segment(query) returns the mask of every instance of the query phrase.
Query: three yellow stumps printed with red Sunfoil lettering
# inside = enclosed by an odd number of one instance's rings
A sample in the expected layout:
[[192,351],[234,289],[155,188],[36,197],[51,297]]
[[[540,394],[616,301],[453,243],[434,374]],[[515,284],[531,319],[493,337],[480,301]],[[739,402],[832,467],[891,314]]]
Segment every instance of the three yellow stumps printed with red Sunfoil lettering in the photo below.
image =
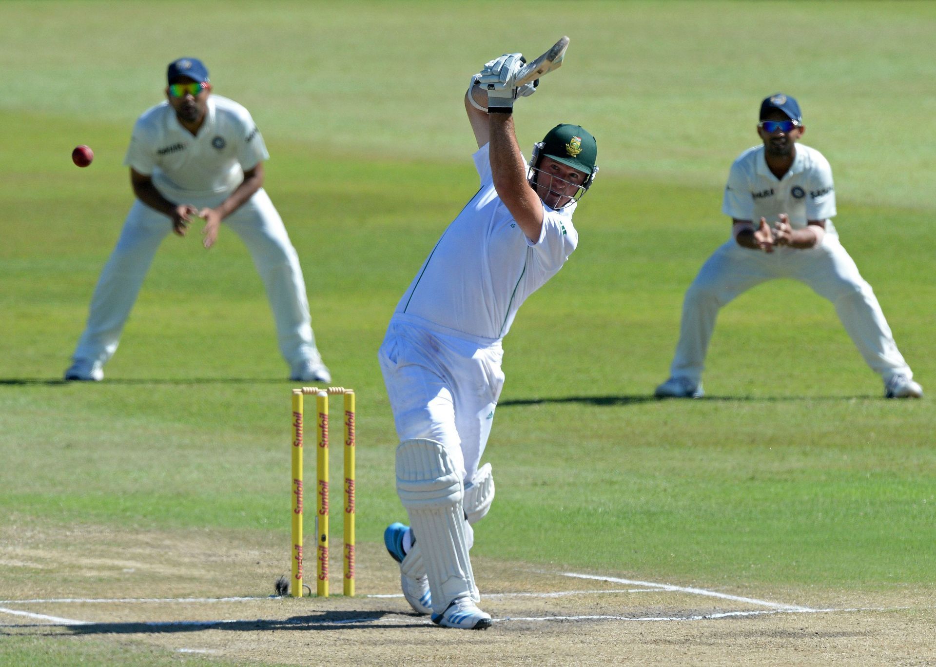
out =
[[355,394],[344,387],[302,387],[292,393],[292,583],[302,597],[302,397],[315,395],[316,595],[329,597],[329,394],[344,394],[344,595],[354,595]]

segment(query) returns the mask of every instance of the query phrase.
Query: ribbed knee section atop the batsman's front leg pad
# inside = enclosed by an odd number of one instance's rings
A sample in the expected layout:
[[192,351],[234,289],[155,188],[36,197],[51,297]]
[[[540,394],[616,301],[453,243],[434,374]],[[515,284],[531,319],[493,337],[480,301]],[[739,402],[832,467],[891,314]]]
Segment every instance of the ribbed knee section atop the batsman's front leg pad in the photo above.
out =
[[461,476],[441,442],[417,438],[397,447],[397,493],[407,510],[461,503]]

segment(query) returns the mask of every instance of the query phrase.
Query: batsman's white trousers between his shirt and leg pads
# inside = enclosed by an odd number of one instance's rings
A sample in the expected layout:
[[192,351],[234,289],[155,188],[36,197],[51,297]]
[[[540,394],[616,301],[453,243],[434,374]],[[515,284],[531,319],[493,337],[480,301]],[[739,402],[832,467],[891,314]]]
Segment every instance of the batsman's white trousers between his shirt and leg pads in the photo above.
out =
[[441,442],[468,483],[504,388],[504,348],[500,340],[448,331],[398,313],[377,356],[400,441]]

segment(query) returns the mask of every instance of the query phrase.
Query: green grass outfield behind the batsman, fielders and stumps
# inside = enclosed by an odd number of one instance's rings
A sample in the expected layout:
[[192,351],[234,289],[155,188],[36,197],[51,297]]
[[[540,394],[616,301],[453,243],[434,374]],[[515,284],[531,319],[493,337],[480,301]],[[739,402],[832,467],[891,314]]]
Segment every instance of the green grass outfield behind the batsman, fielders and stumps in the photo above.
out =
[[[597,136],[602,171],[577,214],[578,251],[505,341],[486,455],[498,500],[475,553],[735,591],[933,591],[931,400],[882,400],[809,289],[770,283],[724,309],[708,399],[650,398],[682,294],[728,234],[728,166],[755,141],[759,99],[780,89],[830,159],[843,245],[936,390],[934,169],[921,139],[936,111],[921,37],[936,31],[933,5],[519,2],[523,29],[466,35],[452,26],[501,5],[233,7],[0,5],[0,58],[20,73],[0,97],[0,528],[241,534],[282,543],[286,569],[292,385],[233,233],[209,253],[197,234],[168,237],[107,381],[57,382],[131,201],[130,127],[185,52],[264,132],[267,189],[300,253],[319,347],[335,383],[358,391],[358,542],[379,544],[403,512],[376,349],[475,192],[461,91],[492,55],[565,33],[567,63],[519,102],[520,142],[528,151],[574,119]],[[182,15],[192,38],[167,39]],[[70,163],[77,143],[95,149],[87,170]],[[28,597],[54,571],[0,544],[0,599]],[[275,573],[210,593],[264,595]],[[0,662],[170,659],[139,651],[5,637]]]

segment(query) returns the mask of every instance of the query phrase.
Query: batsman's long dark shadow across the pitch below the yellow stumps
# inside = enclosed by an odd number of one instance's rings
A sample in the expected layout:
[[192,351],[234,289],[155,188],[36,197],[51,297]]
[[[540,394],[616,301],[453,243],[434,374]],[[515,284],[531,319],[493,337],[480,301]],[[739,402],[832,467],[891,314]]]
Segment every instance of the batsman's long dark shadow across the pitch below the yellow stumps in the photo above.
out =
[[[412,617],[411,623],[385,622],[384,616]],[[18,626],[22,628],[23,626]],[[55,628],[43,633],[47,636],[74,636],[93,634],[170,634],[176,632],[199,632],[201,630],[232,630],[236,632],[269,632],[274,630],[355,630],[434,628],[425,616],[404,614],[396,611],[377,612],[322,612],[320,614],[291,616],[284,619],[256,618],[254,620],[213,621],[116,621],[110,623],[83,623],[68,626],[32,626],[33,628]]]

